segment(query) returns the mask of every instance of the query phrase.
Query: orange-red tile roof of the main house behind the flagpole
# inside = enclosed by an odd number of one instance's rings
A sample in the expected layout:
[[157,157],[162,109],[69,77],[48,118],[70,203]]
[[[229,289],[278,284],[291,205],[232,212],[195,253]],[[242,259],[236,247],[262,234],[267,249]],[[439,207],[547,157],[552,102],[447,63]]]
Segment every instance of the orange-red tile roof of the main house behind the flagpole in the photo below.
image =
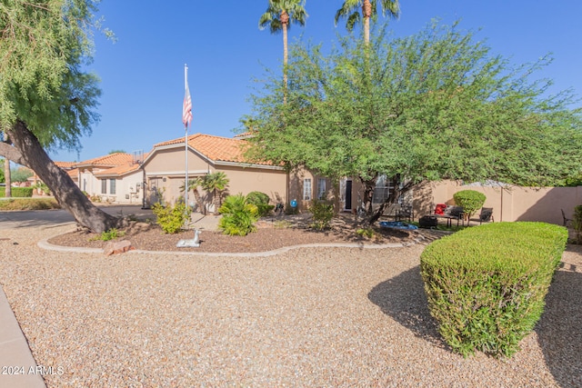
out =
[[[154,148],[174,144],[184,144],[184,137],[155,144]],[[244,150],[247,144],[246,140],[243,139],[220,137],[211,134],[191,134],[188,136],[188,145],[190,147],[215,162],[271,164],[268,162],[251,161],[246,158]]]

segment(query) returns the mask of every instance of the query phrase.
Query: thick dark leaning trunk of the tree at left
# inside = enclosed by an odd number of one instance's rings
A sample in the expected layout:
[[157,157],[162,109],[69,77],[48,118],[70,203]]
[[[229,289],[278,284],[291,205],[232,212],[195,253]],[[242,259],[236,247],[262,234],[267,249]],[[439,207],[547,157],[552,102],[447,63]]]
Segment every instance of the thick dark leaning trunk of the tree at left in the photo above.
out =
[[77,223],[95,233],[123,226],[122,219],[106,214],[89,201],[71,177],[53,163],[35,134],[23,122],[16,122],[8,132],[16,150],[22,154],[25,165],[35,171],[51,189],[56,201],[73,214]]

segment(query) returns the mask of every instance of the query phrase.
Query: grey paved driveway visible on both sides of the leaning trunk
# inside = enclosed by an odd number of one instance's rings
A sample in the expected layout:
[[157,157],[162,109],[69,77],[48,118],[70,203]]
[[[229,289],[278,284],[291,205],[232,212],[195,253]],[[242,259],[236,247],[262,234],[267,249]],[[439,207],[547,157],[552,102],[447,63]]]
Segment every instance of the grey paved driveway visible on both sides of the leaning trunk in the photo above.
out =
[[[99,205],[99,209],[116,216],[133,214],[137,218],[153,218],[151,209],[142,209],[141,204]],[[60,210],[23,210],[0,212],[0,230],[27,227],[54,227],[73,224],[75,218],[64,209]]]

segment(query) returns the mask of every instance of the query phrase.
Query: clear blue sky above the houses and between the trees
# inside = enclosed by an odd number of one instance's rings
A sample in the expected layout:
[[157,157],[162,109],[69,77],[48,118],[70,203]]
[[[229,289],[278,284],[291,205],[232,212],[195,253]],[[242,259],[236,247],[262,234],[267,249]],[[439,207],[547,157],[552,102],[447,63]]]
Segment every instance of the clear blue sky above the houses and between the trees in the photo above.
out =
[[[303,35],[333,45],[344,24],[334,26],[342,0],[307,0],[306,26],[293,25],[289,40]],[[582,95],[582,2],[563,0],[401,1],[402,15],[391,22],[396,36],[413,35],[431,18],[463,29],[478,29],[494,54],[514,64],[552,53],[554,62],[538,77],[555,81],[553,91],[572,88]],[[102,0],[100,15],[117,41],[95,35],[95,61],[101,78],[101,121],[76,151],[52,150],[57,161],[82,161],[115,149],[150,151],[153,144],[184,135],[184,65],[194,105],[189,134],[233,136],[239,119],[251,112],[247,99],[253,79],[283,58],[282,35],[260,31],[267,0],[221,2]]]

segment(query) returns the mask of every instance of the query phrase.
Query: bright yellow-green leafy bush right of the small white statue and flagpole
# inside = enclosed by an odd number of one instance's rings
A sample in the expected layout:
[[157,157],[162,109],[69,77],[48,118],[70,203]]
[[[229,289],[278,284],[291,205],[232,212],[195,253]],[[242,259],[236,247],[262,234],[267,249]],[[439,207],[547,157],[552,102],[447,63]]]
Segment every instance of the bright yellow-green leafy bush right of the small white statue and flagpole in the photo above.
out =
[[258,208],[256,204],[249,204],[245,195],[228,195],[218,212],[222,214],[218,227],[224,234],[246,235],[256,231]]

